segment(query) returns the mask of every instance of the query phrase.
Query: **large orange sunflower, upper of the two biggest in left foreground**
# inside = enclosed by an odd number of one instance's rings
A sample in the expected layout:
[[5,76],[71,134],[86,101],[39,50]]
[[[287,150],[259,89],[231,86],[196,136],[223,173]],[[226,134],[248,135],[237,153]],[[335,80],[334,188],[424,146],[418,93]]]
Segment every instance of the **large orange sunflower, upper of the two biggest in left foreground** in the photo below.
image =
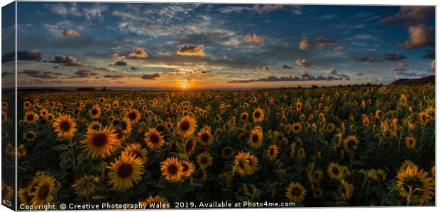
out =
[[92,155],[92,158],[105,158],[119,146],[117,134],[114,129],[104,127],[101,130],[90,129],[87,131],[86,139],[79,141],[83,144],[85,151]]

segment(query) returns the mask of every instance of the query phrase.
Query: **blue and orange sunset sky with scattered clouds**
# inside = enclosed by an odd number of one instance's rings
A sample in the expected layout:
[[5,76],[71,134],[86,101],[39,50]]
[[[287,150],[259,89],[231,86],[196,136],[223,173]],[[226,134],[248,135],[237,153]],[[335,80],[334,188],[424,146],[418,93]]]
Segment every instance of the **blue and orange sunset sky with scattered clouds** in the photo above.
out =
[[[434,7],[18,2],[17,10],[20,87],[277,88],[435,74]],[[4,44],[12,26],[2,25]],[[11,45],[2,47],[2,76],[13,70]]]

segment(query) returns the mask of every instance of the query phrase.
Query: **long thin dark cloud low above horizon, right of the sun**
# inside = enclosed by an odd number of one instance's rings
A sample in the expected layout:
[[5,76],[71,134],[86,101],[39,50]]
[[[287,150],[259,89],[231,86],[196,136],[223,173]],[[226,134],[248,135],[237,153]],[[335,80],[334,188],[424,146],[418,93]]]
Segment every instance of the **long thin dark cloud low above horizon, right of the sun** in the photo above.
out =
[[228,83],[253,83],[253,82],[278,82],[278,81],[340,81],[349,80],[349,78],[343,78],[339,76],[311,76],[309,73],[301,73],[295,76],[268,76],[267,78],[257,78],[248,80],[233,80]]

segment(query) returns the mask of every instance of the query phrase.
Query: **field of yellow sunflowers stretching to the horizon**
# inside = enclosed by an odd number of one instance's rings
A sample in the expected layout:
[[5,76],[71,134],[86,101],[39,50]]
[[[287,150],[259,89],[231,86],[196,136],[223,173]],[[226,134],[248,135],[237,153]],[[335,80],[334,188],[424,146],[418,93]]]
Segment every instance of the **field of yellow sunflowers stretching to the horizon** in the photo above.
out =
[[434,85],[18,97],[18,204],[435,205]]

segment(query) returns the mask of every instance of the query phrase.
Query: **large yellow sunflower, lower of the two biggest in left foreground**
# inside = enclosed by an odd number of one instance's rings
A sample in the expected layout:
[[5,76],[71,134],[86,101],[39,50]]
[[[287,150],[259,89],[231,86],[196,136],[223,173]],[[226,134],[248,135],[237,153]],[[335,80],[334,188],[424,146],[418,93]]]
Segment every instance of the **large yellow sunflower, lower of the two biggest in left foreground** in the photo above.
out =
[[142,179],[143,162],[141,158],[136,158],[133,153],[122,153],[107,168],[110,169],[109,185],[113,185],[113,189],[117,191],[123,192],[130,189]]

